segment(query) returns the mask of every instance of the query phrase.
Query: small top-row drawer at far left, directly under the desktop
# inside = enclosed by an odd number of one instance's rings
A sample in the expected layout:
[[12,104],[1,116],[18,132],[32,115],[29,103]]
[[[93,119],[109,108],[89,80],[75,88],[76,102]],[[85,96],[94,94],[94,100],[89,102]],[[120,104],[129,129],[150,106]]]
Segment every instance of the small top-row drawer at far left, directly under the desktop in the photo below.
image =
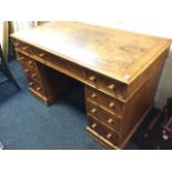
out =
[[13,42],[14,44],[14,49],[19,52],[22,52],[27,55],[31,55],[32,54],[32,48],[31,45],[27,44],[27,43],[23,43],[21,41],[18,41],[18,40],[14,40]]

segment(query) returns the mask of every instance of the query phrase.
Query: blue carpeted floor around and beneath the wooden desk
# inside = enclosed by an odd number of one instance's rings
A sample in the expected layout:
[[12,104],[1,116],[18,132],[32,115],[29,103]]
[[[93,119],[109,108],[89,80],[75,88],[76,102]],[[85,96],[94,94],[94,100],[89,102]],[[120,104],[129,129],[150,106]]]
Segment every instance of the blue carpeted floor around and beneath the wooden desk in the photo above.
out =
[[[0,73],[0,142],[7,150],[105,150],[87,134],[82,84],[45,107],[29,93],[20,63],[9,67],[21,91]],[[139,148],[130,142],[125,149]]]

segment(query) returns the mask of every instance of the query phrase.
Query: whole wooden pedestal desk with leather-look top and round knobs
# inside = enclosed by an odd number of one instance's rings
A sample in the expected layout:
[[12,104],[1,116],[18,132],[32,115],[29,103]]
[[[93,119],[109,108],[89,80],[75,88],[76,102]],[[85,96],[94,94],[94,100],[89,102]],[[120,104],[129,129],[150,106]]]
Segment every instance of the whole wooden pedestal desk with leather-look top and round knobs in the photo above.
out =
[[123,149],[152,107],[171,44],[81,22],[48,22],[12,38],[30,92],[47,104],[70,78],[84,84],[87,131],[108,149]]

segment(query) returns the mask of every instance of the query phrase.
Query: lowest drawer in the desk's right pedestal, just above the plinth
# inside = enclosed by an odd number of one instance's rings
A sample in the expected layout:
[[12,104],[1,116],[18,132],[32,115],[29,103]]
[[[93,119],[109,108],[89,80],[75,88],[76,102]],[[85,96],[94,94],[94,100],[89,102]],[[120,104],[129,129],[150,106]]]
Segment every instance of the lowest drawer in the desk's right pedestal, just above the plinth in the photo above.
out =
[[90,129],[92,129],[94,132],[112,144],[119,144],[120,135],[90,115],[88,115],[88,125]]

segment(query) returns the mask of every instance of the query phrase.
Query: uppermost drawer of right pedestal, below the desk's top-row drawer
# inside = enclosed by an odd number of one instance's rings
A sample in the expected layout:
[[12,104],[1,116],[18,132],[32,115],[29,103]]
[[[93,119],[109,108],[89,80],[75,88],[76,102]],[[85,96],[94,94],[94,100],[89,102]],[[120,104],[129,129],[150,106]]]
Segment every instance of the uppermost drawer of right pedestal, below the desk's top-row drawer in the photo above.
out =
[[103,92],[95,90],[91,87],[85,87],[85,98],[100,107],[103,107],[108,111],[122,117],[122,103],[117,99],[104,94]]

